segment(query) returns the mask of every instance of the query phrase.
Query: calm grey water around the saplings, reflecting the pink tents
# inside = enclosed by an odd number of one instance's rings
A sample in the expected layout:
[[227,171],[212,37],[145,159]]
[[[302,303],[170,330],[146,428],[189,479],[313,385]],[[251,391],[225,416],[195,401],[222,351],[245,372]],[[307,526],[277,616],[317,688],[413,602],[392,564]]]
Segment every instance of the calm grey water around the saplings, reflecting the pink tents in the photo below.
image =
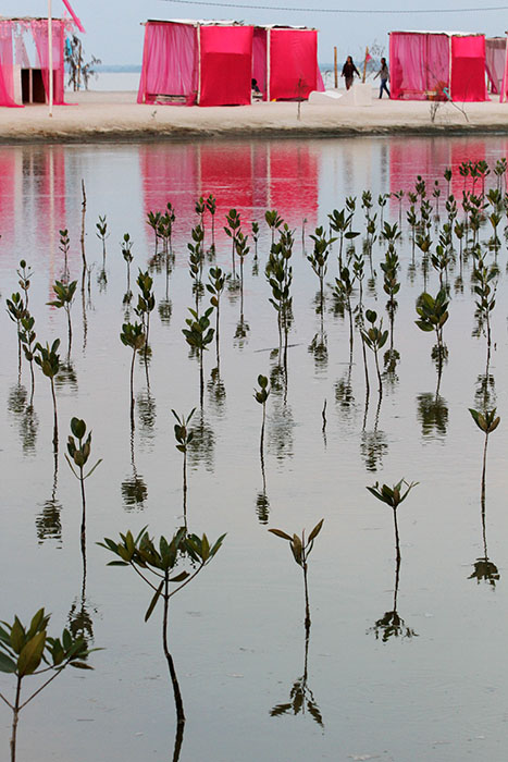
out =
[[[216,374],[211,377],[212,349],[205,358],[203,411],[195,416],[199,446],[190,454],[189,525],[212,538],[222,532],[227,537],[216,558],[171,607],[171,648],[187,715],[181,760],[506,759],[506,247],[498,257],[492,318],[491,405],[497,405],[501,423],[488,444],[486,542],[499,576],[490,583],[472,577],[476,560],[485,554],[480,506],[483,435],[468,407],[480,405],[485,340],[472,335],[471,259],[463,266],[463,291],[456,287],[458,261],[449,273],[449,357],[436,400],[433,339],[414,325],[414,302],[423,291],[421,256],[412,268],[404,225],[394,331],[400,360],[384,381],[379,407],[369,357],[365,415],[358,335],[349,367],[348,322],[334,310],[330,288],[321,334],[319,284],[302,254],[301,225],[306,219],[309,249],[309,233],[325,224],[326,214],[342,208],[346,196],[360,196],[365,188],[372,190],[379,219],[379,194],[411,189],[417,173],[431,181],[430,186],[439,179],[443,212],[446,167],[454,168],[451,187],[460,196],[460,162],[486,159],[493,167],[507,151],[506,140],[498,138],[0,148],[1,296],[4,300],[17,290],[15,269],[26,258],[34,269],[29,299],[37,337],[46,342],[60,336],[62,359],[65,317],[46,303],[52,282],[62,274],[63,228],[71,236],[71,278],[80,278],[82,179],[87,194],[86,250],[88,262],[95,263],[85,311],[80,295],[72,309],[71,361],[58,383],[57,471],[49,382],[37,369],[30,417],[17,386],[14,325],[2,310],[0,616],[12,622],[16,613],[26,620],[46,605],[52,612],[51,631],[80,617],[94,644],[104,649],[90,657],[94,672],[69,669],[24,710],[20,760],[172,759],[175,713],[159,616],[156,612],[144,624],[147,589],[129,569],[108,568],[111,558],[95,542],[146,525],[154,534],[171,536],[179,525],[182,459],[174,446],[171,408],[187,413],[199,404],[198,366],[188,355],[182,328],[193,305],[186,247],[197,221],[194,206],[199,195],[209,193],[218,198],[221,267],[230,269],[231,242],[222,225],[231,207],[240,211],[246,232],[250,221],[258,220],[261,233],[259,274],[253,272],[252,249],[246,261],[243,323],[237,294],[224,294],[220,382]],[[495,183],[492,174],[487,183]],[[163,261],[152,269],[157,307],[150,328],[150,389],[143,365],[136,364],[132,447],[131,352],[119,339],[126,310],[120,242],[125,232],[134,239],[134,283],[137,268],[146,269],[153,257],[146,214],[170,200],[177,216],[175,263],[169,280]],[[287,400],[273,391],[268,403],[263,504],[261,409],[252,391],[258,374],[270,374],[276,364],[271,353],[277,346],[276,318],[264,279],[268,208],[276,208],[296,230],[296,244]],[[384,213],[397,221],[398,202],[389,200]],[[110,231],[104,271],[96,236],[99,214],[107,214]],[[505,224],[506,220],[500,230]],[[359,201],[354,229],[363,233]],[[490,234],[484,226],[481,239]],[[358,250],[359,242],[361,237],[356,239]],[[374,244],[375,285],[365,284],[364,300],[387,325],[379,267],[384,250]],[[335,253],[326,278],[331,283],[337,274]],[[437,288],[431,268],[429,290]],[[357,298],[358,294],[355,304]],[[29,391],[27,366],[22,384]],[[92,457],[103,458],[87,481],[85,598],[78,484],[63,458],[74,415],[94,430]],[[395,607],[405,620],[404,632],[412,637],[384,641],[380,620],[394,611],[396,585],[393,523],[389,508],[365,487],[401,477],[420,482],[399,508],[401,565]],[[302,580],[287,543],[267,529],[299,532],[321,517],[324,527],[309,562],[312,628],[306,701],[295,706],[294,685],[305,674]],[[0,689],[12,695],[8,676],[0,677]],[[0,727],[7,758],[7,706],[0,712]]]

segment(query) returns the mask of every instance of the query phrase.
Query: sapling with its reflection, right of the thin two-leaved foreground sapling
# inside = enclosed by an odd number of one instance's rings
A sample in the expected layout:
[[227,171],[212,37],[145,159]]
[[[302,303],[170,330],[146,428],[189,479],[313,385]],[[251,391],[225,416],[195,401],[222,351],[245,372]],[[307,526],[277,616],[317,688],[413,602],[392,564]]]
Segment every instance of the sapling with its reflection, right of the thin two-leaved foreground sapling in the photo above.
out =
[[394,530],[395,530],[395,586],[394,586],[394,603],[393,603],[393,610],[386,612],[381,619],[377,619],[374,624],[374,626],[368,630],[368,631],[373,631],[375,635],[375,638],[379,639],[381,637],[382,641],[385,643],[388,641],[389,638],[395,637],[395,638],[412,638],[417,636],[417,632],[408,627],[405,623],[405,620],[401,618],[401,616],[398,614],[397,611],[397,595],[398,595],[398,587],[399,587],[399,575],[400,575],[400,561],[401,561],[401,555],[400,555],[400,540],[399,540],[399,533],[398,533],[398,524],[397,524],[397,508],[402,503],[410,491],[412,490],[413,487],[416,487],[418,482],[407,482],[404,479],[400,479],[397,484],[394,484],[393,487],[388,487],[388,484],[382,484],[380,487],[379,482],[375,482],[373,487],[368,487],[367,489],[371,494],[374,495],[374,497],[377,497],[382,503],[385,503],[385,505],[388,505],[392,511],[393,511],[393,517],[394,517]]

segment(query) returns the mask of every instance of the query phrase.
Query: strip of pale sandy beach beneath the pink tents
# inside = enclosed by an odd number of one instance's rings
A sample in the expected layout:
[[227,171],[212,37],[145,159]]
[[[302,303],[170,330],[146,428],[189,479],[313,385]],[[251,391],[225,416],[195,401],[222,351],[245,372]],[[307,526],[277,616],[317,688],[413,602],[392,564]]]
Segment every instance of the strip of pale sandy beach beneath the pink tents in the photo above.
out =
[[69,93],[70,106],[0,109],[0,142],[145,140],[188,137],[332,137],[387,134],[507,133],[508,103],[439,106],[373,98],[367,107],[294,102],[241,107],[139,106],[132,91]]

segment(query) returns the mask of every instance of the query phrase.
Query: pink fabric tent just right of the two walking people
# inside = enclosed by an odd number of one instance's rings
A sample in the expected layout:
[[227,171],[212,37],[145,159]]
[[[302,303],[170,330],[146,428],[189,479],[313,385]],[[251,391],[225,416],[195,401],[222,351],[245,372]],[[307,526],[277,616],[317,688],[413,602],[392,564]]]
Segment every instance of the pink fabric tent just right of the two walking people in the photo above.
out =
[[392,98],[488,100],[485,35],[455,32],[392,32]]

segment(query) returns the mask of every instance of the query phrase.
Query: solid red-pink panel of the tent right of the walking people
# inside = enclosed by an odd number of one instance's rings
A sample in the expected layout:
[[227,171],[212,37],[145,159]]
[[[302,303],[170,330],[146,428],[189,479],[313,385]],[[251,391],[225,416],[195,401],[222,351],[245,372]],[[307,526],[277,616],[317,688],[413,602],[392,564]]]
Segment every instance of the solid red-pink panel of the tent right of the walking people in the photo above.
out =
[[484,35],[451,37],[451,100],[488,100]]

